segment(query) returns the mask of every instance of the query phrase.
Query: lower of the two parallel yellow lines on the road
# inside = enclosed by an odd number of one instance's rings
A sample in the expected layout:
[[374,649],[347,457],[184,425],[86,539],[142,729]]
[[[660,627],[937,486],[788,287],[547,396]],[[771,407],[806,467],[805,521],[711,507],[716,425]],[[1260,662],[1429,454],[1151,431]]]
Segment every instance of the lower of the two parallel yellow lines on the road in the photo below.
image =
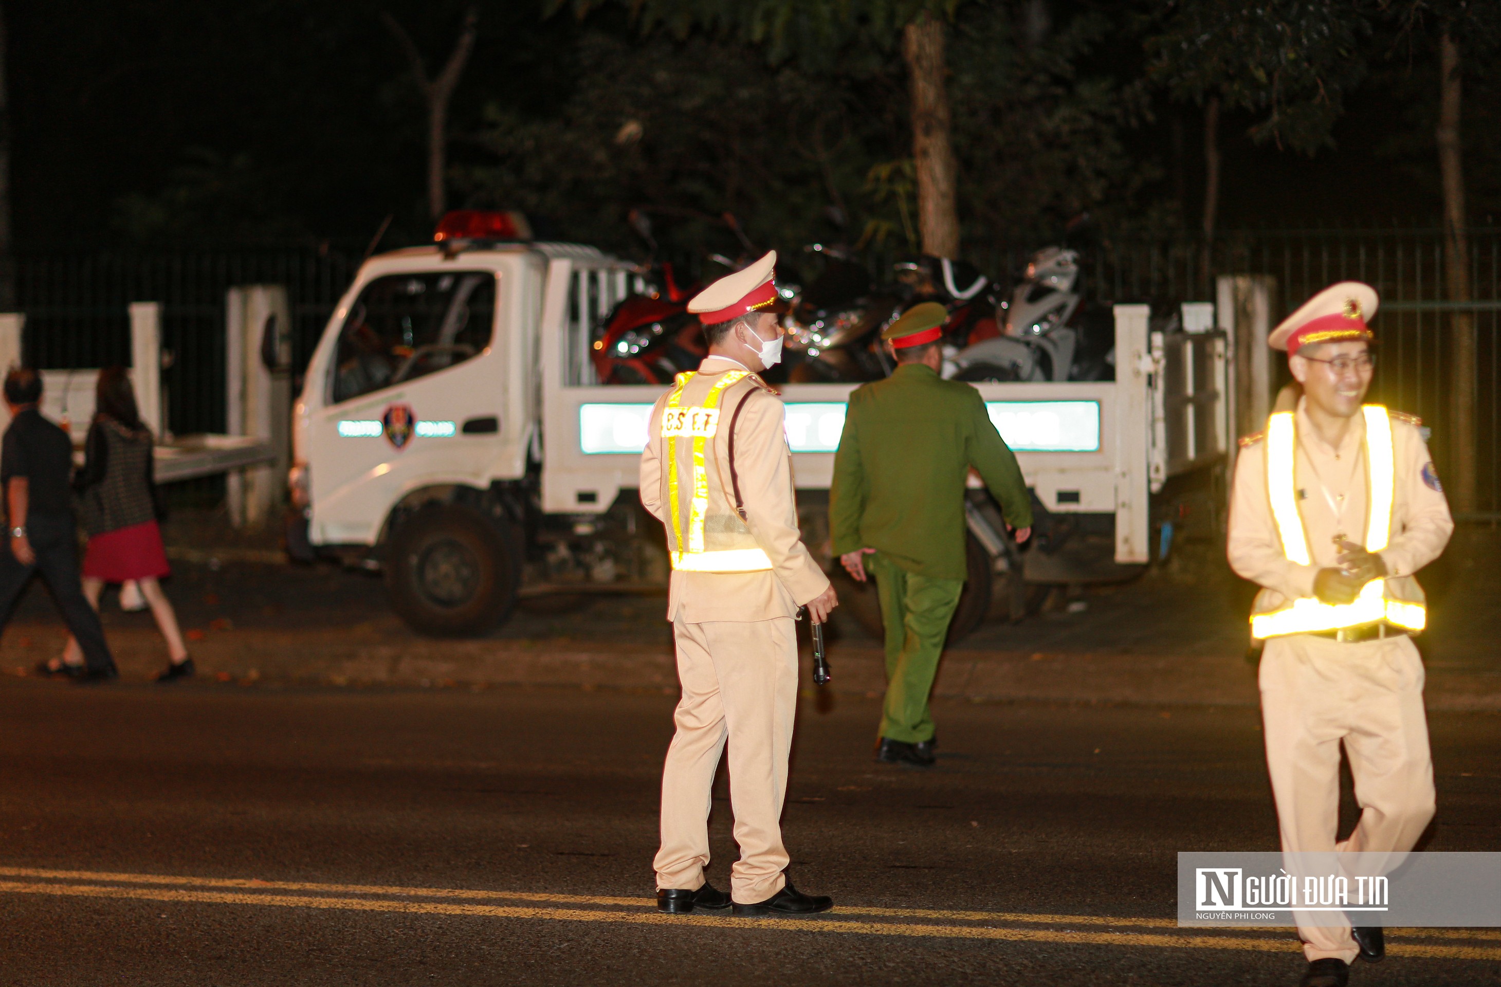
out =
[[[15,870],[15,868],[8,868]],[[69,872],[62,872],[69,873]],[[215,880],[215,879],[201,879]],[[261,882],[266,886],[270,882]],[[908,922],[865,922],[817,918],[731,918],[710,915],[663,915],[660,912],[615,912],[569,908],[518,908],[504,904],[456,904],[447,902],[390,902],[380,898],[314,897],[291,894],[245,894],[236,891],[185,891],[179,888],[125,888],[90,884],[26,884],[0,880],[0,892],[47,894],[54,897],[123,898],[135,902],[182,902],[197,904],[254,904],[261,908],[312,908],[327,910],[386,912],[408,915],[459,915],[480,918],[531,918],[548,921],[608,922],[636,926],[711,926],[785,932],[833,932],[868,936],[920,939],[989,939],[1007,942],[1054,942],[1078,945],[1157,946],[1177,950],[1240,950],[1295,952],[1289,939],[1247,936],[1169,936],[1160,933],[1072,932],[1055,928],[991,928],[983,926],[928,926]],[[581,896],[579,896],[581,897]],[[635,902],[636,898],[627,898]],[[896,909],[889,909],[896,910]],[[1393,944],[1393,956],[1501,960],[1501,950],[1486,946]]]

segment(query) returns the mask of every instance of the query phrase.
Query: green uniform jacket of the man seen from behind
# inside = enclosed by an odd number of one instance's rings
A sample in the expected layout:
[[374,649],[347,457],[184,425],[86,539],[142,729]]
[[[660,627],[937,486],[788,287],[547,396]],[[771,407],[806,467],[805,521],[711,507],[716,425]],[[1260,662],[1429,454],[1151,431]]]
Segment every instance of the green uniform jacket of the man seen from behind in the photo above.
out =
[[1001,504],[1006,524],[1031,526],[1031,501],[970,384],[904,363],[850,394],[829,519],[836,555],[877,549],[910,573],[964,579],[964,484],[970,466]]

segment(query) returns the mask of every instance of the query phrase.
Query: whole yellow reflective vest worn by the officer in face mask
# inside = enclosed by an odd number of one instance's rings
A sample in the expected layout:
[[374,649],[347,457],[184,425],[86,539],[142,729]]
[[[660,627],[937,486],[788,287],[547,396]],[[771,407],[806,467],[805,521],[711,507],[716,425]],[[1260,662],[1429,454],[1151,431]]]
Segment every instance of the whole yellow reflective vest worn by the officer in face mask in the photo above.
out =
[[[734,460],[725,476],[705,448],[719,434],[723,394],[750,376],[746,370],[722,374],[708,388],[702,405],[683,405],[683,387],[693,372],[678,374],[666,408],[662,411],[662,440],[666,458],[666,494],[671,524],[668,555],[672,568],[698,573],[754,573],[772,568],[772,560],[757,544],[755,536],[738,513],[734,496]],[[734,410],[723,422],[732,428]],[[731,446],[732,454],[734,446]],[[684,496],[686,494],[686,496]],[[686,501],[686,502],[684,502]],[[684,510],[686,508],[686,510]]]

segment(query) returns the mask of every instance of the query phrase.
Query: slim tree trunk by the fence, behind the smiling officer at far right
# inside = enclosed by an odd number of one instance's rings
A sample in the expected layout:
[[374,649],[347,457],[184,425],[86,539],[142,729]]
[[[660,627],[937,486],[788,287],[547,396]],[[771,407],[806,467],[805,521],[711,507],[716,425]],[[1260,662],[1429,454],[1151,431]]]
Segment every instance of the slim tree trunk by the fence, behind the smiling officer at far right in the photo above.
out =
[[[1459,46],[1445,30],[1438,42],[1439,110],[1438,165],[1444,178],[1444,274],[1448,300],[1469,302],[1469,237],[1465,231],[1463,148],[1459,140],[1460,76]],[[1448,496],[1454,510],[1475,510],[1475,316],[1468,310],[1450,315],[1450,423]]]

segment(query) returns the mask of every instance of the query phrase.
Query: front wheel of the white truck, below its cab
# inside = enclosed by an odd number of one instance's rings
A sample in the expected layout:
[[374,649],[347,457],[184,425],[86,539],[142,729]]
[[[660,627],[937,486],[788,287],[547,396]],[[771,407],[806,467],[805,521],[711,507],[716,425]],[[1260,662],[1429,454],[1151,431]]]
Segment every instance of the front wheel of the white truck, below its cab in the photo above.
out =
[[516,604],[510,540],[479,512],[423,507],[390,538],[386,588],[413,630],[434,638],[483,634]]

